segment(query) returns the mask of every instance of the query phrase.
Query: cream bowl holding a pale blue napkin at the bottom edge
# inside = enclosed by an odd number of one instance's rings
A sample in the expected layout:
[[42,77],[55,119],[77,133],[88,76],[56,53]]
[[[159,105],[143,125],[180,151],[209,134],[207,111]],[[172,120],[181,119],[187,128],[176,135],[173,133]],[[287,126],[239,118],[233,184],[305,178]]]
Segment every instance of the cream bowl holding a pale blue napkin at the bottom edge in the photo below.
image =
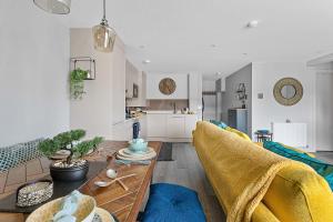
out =
[[[62,198],[48,202],[33,211],[26,222],[52,221],[53,215],[59,212]],[[95,200],[92,196],[83,195],[79,202],[79,208],[73,214],[78,222],[91,222],[95,213]]]

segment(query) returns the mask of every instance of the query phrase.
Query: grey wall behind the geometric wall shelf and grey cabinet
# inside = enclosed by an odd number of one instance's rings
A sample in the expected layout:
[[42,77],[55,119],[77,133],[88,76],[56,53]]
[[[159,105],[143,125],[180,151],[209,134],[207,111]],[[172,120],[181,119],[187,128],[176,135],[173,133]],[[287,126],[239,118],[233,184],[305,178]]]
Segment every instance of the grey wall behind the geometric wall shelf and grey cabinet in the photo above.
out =
[[248,108],[248,133],[252,133],[252,64],[248,64],[239,71],[225,78],[225,92],[222,99],[222,115],[228,122],[228,110],[232,108],[241,108],[242,102],[236,98],[235,91],[240,83],[245,84],[248,99],[245,105]]

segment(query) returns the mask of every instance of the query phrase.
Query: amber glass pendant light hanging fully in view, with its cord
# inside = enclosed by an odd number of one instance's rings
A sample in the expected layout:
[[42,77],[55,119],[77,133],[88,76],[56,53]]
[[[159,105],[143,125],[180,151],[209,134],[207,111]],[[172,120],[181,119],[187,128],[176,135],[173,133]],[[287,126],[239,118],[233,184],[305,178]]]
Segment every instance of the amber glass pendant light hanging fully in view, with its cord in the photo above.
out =
[[100,24],[92,28],[93,47],[98,51],[112,52],[117,33],[109,27],[105,18],[105,0],[103,0],[103,18]]

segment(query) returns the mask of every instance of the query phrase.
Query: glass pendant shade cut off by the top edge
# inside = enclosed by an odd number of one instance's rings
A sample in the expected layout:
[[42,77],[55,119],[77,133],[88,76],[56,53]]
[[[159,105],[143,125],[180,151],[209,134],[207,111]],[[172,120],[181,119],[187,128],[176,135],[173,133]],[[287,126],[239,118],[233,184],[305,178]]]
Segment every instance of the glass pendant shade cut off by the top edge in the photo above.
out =
[[33,2],[50,13],[68,14],[71,10],[71,0],[33,0]]

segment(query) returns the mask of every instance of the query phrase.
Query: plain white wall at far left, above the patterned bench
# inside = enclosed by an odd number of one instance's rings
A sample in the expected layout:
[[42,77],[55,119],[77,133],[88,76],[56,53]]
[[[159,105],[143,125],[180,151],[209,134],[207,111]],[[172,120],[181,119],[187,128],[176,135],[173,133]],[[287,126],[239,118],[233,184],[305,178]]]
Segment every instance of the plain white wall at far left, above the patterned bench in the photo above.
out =
[[0,145],[69,129],[68,18],[0,1]]

